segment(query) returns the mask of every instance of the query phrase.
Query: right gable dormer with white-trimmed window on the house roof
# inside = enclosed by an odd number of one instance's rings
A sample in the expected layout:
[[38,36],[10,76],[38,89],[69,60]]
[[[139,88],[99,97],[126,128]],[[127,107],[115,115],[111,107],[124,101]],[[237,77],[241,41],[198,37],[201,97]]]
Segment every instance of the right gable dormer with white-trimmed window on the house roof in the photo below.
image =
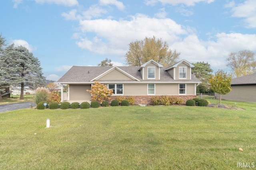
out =
[[193,67],[193,64],[182,60],[166,68],[165,71],[168,71],[174,80],[191,80],[191,68]]

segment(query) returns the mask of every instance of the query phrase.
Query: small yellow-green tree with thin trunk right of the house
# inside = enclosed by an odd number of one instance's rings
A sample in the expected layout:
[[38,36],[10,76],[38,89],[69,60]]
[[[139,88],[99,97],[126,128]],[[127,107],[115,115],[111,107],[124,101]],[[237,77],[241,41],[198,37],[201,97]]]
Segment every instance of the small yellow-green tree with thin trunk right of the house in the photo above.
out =
[[231,91],[231,79],[232,76],[230,74],[227,74],[223,70],[218,70],[209,80],[212,91],[220,94],[220,104],[221,95],[228,94]]

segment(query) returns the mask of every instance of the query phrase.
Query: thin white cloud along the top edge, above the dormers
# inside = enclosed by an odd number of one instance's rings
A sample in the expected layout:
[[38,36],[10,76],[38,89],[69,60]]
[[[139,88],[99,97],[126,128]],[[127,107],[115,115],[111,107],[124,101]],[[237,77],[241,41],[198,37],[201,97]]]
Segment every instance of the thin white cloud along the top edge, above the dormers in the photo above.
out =
[[186,6],[194,6],[199,2],[207,2],[208,4],[214,2],[214,0],[144,0],[146,5],[154,6],[156,3],[160,2],[162,4],[178,5],[184,4]]

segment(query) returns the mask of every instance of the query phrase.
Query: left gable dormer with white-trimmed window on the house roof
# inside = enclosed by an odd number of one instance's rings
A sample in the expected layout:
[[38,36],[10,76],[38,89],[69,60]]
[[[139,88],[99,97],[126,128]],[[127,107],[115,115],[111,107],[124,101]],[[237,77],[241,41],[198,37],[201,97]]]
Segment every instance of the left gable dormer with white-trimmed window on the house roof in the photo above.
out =
[[153,59],[140,66],[138,71],[142,76],[142,80],[160,80],[160,68],[163,67]]

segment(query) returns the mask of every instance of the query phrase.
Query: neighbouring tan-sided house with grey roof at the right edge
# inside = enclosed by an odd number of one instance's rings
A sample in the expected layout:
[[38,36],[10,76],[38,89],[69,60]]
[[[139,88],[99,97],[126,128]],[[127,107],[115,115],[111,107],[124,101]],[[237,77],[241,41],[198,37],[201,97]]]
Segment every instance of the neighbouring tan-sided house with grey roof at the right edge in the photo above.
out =
[[[222,99],[256,102],[256,73],[232,79],[231,88],[228,94],[221,95]],[[220,95],[215,94],[215,98],[219,99]]]

